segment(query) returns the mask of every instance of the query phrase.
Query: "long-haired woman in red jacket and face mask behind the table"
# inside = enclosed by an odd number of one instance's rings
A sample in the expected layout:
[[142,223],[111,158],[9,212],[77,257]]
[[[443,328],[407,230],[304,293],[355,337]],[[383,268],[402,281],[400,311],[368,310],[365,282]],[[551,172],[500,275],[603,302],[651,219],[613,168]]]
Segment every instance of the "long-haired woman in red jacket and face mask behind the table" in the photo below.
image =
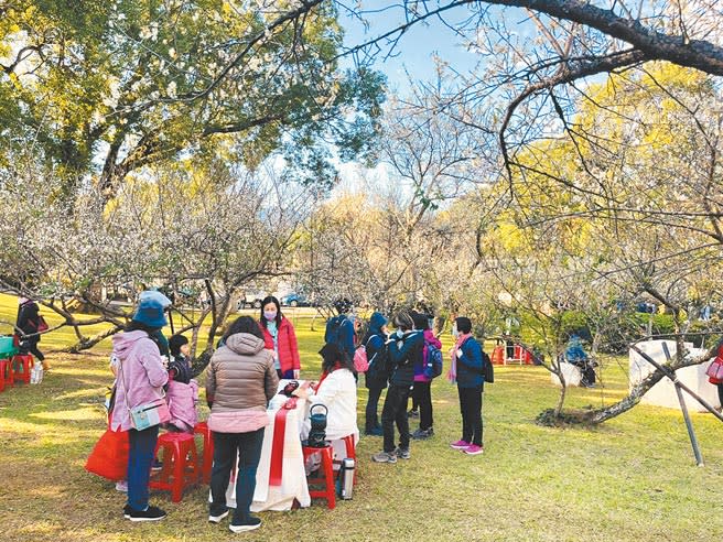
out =
[[269,295],[261,302],[261,322],[266,348],[273,351],[279,378],[298,379],[301,371],[299,345],[291,321],[281,314],[279,300]]

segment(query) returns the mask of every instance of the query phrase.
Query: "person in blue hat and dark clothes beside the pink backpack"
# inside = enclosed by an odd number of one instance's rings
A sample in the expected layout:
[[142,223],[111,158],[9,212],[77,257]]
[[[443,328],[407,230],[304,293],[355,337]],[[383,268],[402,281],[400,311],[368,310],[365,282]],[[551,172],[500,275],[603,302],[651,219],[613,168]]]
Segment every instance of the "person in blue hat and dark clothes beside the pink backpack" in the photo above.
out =
[[381,392],[387,387],[385,344],[387,343],[388,322],[381,313],[371,313],[369,329],[362,339],[362,345],[366,348],[367,359],[369,360],[369,369],[365,372],[365,384],[369,390],[369,397],[365,411],[364,433],[371,436],[381,436],[384,434],[377,411]]

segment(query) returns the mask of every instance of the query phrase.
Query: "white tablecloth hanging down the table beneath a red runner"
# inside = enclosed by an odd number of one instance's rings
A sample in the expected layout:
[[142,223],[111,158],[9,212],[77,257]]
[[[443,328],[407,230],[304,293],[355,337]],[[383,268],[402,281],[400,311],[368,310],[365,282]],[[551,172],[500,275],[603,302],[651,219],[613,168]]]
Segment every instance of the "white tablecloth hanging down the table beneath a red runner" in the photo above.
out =
[[[279,382],[279,391],[289,383],[289,380]],[[303,383],[303,381],[300,381]],[[252,512],[263,510],[291,510],[293,500],[296,499],[302,508],[311,505],[309,485],[304,471],[304,456],[301,449],[300,433],[303,425],[303,416],[306,411],[306,401],[299,398],[296,408],[287,414],[287,429],[283,436],[283,471],[281,486],[269,486],[269,471],[271,468],[271,448],[273,444],[273,423],[277,411],[284,404],[284,395],[276,395],[269,403],[267,415],[269,425],[263,433],[263,446],[261,458],[256,473],[256,490],[253,491]],[[226,505],[236,507],[236,473],[231,474],[231,480],[226,491]],[[208,497],[211,500],[211,496]]]

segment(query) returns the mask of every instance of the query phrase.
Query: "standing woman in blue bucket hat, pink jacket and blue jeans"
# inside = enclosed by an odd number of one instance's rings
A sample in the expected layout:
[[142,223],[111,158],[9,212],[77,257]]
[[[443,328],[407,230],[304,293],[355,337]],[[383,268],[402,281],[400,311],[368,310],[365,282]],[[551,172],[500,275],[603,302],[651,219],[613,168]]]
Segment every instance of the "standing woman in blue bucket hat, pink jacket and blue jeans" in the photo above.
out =
[[169,373],[158,344],[151,337],[157,336],[165,324],[162,303],[155,297],[141,297],[131,323],[112,338],[119,367],[111,429],[128,431],[128,502],[123,516],[131,521],[165,518],[163,510],[148,503],[148,483],[159,426],[137,431],[130,419],[130,409],[163,398],[162,388],[169,381]]

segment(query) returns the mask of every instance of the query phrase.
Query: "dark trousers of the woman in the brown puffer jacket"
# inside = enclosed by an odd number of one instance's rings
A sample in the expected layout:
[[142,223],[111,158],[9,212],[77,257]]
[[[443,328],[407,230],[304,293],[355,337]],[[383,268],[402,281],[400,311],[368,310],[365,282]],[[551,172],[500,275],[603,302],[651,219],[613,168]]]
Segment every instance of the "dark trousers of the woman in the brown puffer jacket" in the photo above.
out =
[[226,511],[226,489],[231,468],[238,457],[234,520],[244,521],[249,518],[256,489],[256,469],[259,466],[262,445],[263,427],[249,433],[214,432],[214,468],[211,471],[212,516]]

